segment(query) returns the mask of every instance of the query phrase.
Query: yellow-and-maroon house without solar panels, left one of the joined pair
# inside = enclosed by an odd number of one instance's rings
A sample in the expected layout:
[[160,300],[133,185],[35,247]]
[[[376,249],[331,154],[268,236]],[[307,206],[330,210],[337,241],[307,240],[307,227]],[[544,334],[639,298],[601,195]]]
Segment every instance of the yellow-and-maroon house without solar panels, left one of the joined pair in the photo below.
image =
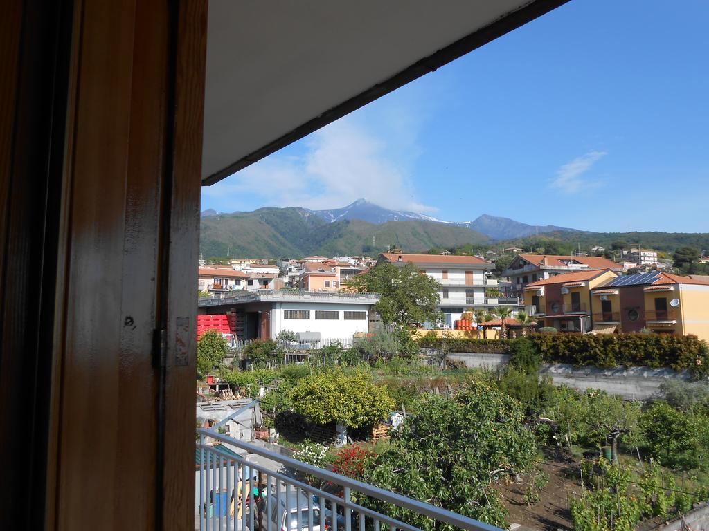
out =
[[530,307],[539,326],[553,326],[562,332],[590,332],[591,290],[617,277],[610,269],[592,269],[530,282],[524,288],[525,307]]

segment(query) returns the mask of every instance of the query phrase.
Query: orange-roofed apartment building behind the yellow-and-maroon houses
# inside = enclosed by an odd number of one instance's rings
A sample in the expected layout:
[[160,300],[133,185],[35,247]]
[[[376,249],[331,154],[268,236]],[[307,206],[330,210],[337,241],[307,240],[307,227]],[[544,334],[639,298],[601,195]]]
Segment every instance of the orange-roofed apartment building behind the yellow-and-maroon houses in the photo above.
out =
[[622,273],[623,268],[603,256],[564,256],[549,254],[518,254],[510,267],[502,272],[510,279],[510,295],[523,297],[525,287],[538,280],[547,280],[556,275],[586,271],[592,269],[610,269]]

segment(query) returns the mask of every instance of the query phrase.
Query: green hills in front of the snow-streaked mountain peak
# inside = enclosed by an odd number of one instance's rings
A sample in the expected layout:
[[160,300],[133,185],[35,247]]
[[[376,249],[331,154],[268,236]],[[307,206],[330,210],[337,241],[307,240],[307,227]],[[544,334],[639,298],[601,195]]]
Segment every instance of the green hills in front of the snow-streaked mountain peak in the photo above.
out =
[[203,256],[307,256],[376,254],[388,246],[407,252],[433,246],[483,244],[487,237],[465,227],[427,221],[373,224],[353,219],[330,223],[301,208],[262,208],[254,212],[201,218]]

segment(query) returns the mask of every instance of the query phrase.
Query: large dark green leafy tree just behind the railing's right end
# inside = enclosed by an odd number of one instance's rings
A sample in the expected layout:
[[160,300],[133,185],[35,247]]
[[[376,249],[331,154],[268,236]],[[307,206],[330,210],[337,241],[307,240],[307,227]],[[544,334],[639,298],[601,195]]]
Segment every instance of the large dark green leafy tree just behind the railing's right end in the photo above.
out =
[[[389,450],[365,470],[367,481],[434,506],[506,527],[506,510],[493,479],[529,469],[536,448],[523,425],[523,411],[510,396],[474,382],[454,399],[429,396],[393,436]],[[381,512],[425,530],[423,515],[379,501]]]

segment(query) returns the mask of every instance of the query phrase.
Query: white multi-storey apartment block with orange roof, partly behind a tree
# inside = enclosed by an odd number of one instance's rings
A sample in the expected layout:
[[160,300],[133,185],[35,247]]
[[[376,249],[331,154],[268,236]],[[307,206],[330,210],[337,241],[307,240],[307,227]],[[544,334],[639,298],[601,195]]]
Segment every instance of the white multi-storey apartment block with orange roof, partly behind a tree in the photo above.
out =
[[498,287],[498,281],[488,278],[495,265],[478,256],[446,256],[437,254],[381,253],[377,264],[413,263],[421,273],[435,278],[441,285],[438,309],[445,316],[445,325],[461,319],[469,308],[489,308],[510,304],[518,308],[517,297],[488,297],[486,288]]

